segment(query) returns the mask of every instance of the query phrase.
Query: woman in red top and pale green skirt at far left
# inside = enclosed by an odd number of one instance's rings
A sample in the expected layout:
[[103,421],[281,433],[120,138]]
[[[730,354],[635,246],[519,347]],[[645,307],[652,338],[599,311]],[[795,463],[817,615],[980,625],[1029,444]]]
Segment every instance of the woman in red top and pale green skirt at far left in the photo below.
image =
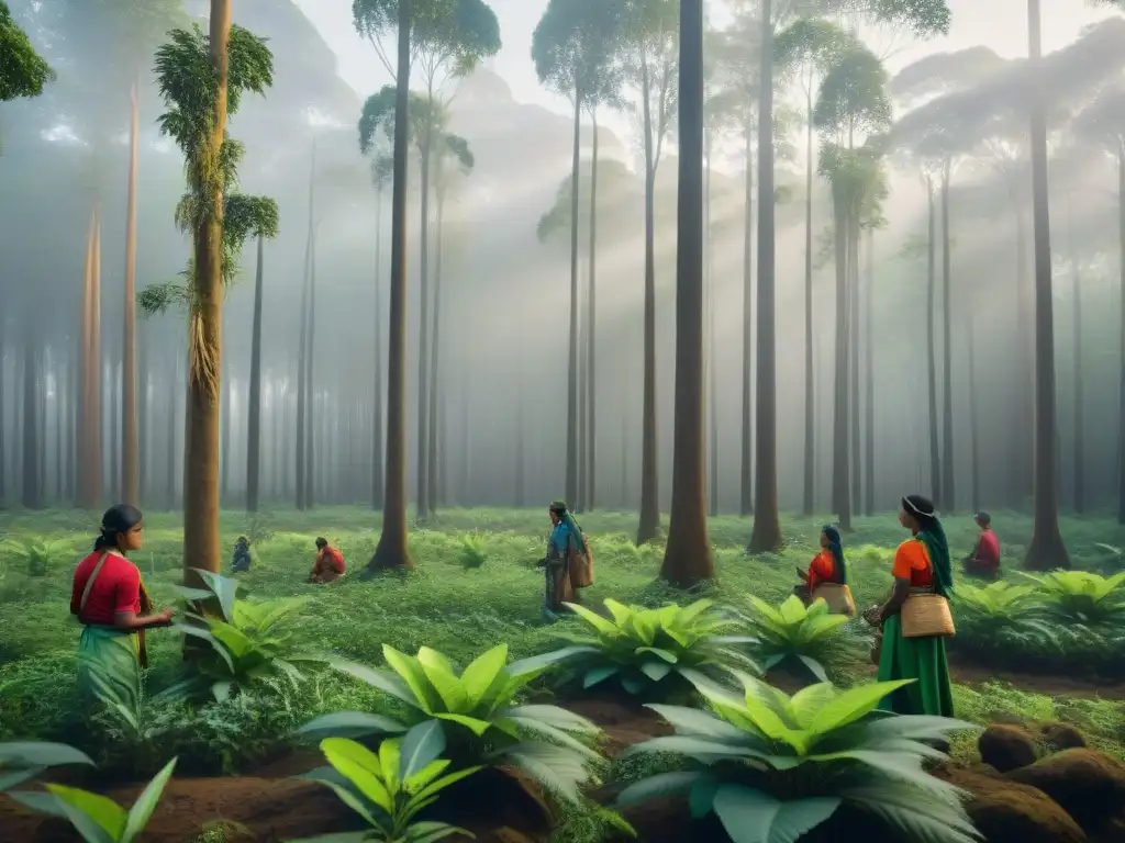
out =
[[71,614],[82,624],[79,640],[79,690],[87,699],[115,697],[136,705],[141,668],[147,667],[144,631],[169,626],[172,610],[152,614],[141,571],[129,551],[141,549],[141,510],[118,504],[101,517],[93,552],[79,562],[71,590]]

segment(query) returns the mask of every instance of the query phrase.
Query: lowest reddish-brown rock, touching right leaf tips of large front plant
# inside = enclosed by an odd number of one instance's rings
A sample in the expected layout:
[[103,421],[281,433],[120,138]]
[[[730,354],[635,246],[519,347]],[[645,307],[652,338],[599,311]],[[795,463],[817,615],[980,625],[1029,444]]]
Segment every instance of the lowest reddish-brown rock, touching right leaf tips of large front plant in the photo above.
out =
[[987,843],[1087,843],[1086,833],[1041,790],[1002,778],[945,768],[938,774],[969,791],[965,810]]

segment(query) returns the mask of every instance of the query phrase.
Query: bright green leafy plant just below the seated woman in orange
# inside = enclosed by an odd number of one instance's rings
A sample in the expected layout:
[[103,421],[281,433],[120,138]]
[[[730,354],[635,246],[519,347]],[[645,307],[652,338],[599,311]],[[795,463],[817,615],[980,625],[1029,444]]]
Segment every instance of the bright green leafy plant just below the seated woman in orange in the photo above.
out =
[[855,636],[844,629],[849,618],[831,614],[824,600],[806,606],[793,595],[774,608],[754,595],[747,597],[755,609],[747,623],[758,640],[757,651],[765,670],[786,660],[795,661],[827,682],[825,664],[852,655],[856,649]]

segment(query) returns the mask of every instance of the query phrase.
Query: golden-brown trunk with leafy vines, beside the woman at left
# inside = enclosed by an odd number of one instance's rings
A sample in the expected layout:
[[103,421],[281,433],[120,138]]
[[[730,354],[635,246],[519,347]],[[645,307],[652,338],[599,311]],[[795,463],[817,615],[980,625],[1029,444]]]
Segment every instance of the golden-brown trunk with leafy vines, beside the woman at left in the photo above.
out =
[[[207,147],[191,162],[196,188],[217,164],[226,136],[227,40],[231,0],[210,3],[210,63],[218,78]],[[220,570],[218,546],[218,427],[223,371],[223,185],[208,187],[206,221],[195,232],[195,302],[190,319],[188,430],[183,446],[183,580],[202,587],[194,569]]]

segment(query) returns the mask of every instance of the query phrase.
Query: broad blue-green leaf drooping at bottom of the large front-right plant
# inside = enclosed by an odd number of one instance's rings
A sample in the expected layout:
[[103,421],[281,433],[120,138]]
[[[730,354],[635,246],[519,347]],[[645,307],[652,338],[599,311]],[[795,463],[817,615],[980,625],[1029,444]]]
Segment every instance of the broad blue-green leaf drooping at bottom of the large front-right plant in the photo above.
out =
[[796,843],[842,801],[817,797],[782,803],[760,790],[726,785],[716,792],[713,806],[732,843]]

